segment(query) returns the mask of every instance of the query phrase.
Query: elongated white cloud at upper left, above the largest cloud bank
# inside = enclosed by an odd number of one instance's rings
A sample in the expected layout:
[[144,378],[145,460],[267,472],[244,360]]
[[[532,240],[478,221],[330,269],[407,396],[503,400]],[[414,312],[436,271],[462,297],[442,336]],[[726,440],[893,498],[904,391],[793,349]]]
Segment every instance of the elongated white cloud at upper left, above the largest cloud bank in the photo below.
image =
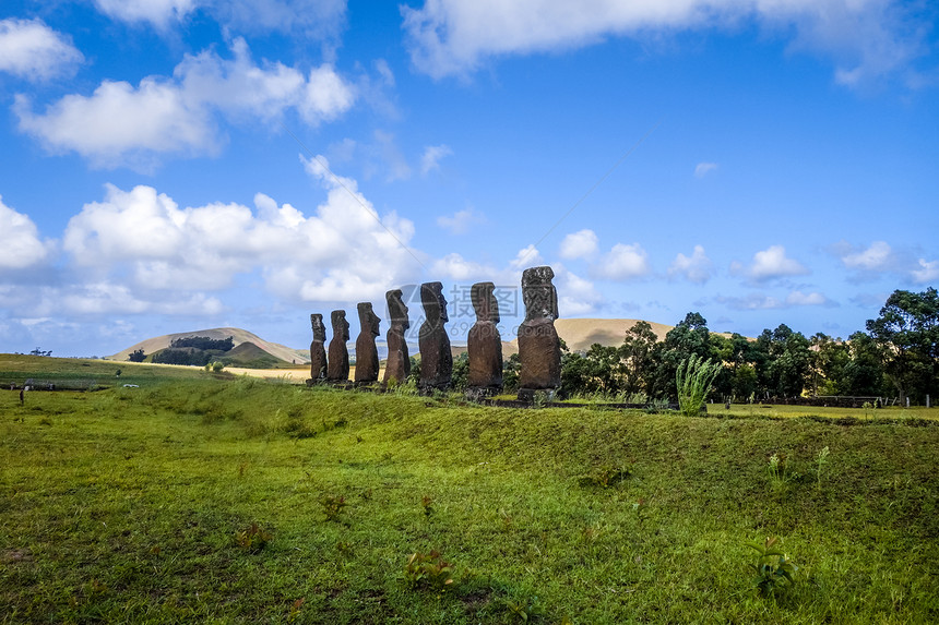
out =
[[91,96],[68,95],[44,112],[17,96],[20,129],[52,152],[76,152],[99,167],[152,167],[158,154],[211,154],[222,139],[217,116],[270,121],[287,109],[311,125],[348,110],[355,92],[324,64],[308,75],[282,63],[257,64],[243,39],[233,58],[214,51],[187,56],[171,79],[147,76],[138,86],[105,81]]

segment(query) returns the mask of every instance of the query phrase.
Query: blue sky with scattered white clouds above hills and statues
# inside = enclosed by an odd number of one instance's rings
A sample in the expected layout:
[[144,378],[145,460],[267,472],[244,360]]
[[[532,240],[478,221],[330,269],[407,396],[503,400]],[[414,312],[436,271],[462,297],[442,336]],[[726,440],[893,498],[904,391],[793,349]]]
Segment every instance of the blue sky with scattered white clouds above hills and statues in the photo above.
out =
[[300,347],[311,312],[354,337],[388,289],[538,264],[561,316],[847,337],[939,283],[937,24],[925,0],[5,0],[0,351]]

